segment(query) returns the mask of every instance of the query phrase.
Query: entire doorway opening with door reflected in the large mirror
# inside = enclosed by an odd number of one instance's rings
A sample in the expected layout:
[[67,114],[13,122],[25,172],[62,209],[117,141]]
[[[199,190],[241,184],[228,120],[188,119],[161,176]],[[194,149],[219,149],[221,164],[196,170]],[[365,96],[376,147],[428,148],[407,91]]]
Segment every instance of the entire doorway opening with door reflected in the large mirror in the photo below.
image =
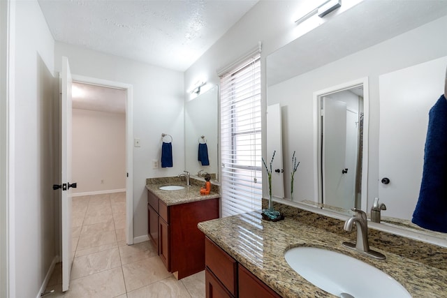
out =
[[362,87],[320,97],[321,202],[360,208]]

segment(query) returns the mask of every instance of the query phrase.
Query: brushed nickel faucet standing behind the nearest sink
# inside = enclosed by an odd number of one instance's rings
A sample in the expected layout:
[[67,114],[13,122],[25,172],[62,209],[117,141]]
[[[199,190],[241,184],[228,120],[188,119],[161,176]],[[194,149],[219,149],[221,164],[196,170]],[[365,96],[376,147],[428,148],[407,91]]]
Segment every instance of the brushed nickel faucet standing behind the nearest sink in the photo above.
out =
[[372,258],[381,259],[381,260],[385,259],[385,255],[383,255],[377,251],[372,251],[371,249],[369,249],[368,221],[367,221],[366,213],[360,209],[357,209],[357,208],[353,208],[351,210],[356,212],[356,215],[349,218],[344,223],[343,229],[345,231],[351,232],[353,223],[356,223],[357,241],[356,241],[356,244],[352,244],[350,242],[343,242],[342,244],[348,248],[355,249],[356,251],[359,251],[360,253],[369,255]]

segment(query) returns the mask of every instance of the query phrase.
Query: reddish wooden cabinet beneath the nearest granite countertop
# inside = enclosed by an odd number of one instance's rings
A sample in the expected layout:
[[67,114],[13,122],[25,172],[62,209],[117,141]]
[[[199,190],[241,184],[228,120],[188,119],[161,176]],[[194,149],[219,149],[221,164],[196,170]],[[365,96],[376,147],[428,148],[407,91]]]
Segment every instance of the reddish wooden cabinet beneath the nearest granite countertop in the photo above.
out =
[[208,237],[205,238],[205,291],[207,298],[281,298]]

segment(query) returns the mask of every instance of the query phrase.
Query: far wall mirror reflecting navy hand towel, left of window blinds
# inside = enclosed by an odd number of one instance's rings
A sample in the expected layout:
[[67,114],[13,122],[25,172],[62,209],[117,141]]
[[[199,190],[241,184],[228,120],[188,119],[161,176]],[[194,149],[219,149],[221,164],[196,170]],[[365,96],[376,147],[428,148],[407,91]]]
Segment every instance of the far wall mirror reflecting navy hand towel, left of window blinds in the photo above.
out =
[[[218,179],[218,96],[217,85],[203,91],[185,103],[185,169],[191,174],[207,172]],[[207,151],[209,163],[205,163],[199,150]],[[206,158],[205,158],[206,159]]]

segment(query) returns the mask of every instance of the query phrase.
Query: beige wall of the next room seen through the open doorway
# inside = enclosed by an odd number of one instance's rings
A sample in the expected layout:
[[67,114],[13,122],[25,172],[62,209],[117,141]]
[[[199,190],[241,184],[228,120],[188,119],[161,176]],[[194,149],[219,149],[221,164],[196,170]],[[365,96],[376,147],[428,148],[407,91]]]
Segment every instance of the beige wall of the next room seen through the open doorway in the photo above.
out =
[[126,114],[73,109],[72,121],[73,193],[126,188]]

